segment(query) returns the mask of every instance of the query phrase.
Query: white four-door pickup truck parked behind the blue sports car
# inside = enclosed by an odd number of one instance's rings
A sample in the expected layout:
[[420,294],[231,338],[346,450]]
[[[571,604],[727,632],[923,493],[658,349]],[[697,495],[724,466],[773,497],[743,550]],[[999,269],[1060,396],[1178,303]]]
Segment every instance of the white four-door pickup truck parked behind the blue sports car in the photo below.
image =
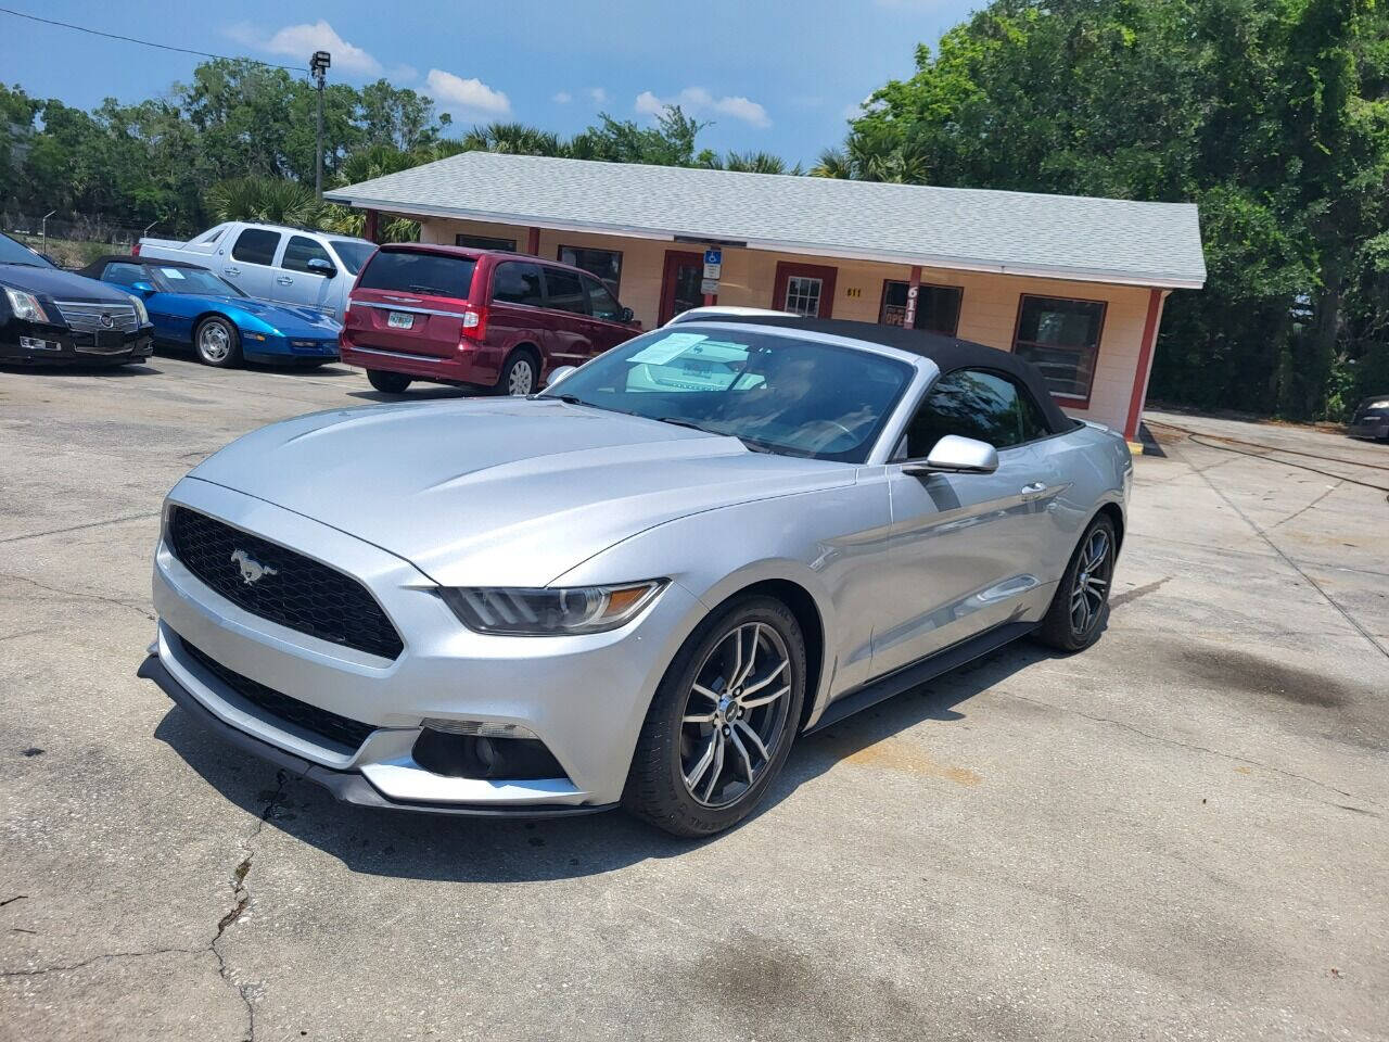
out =
[[347,293],[376,245],[331,232],[228,221],[188,242],[140,239],[135,253],[200,264],[261,300],[303,304],[343,321]]

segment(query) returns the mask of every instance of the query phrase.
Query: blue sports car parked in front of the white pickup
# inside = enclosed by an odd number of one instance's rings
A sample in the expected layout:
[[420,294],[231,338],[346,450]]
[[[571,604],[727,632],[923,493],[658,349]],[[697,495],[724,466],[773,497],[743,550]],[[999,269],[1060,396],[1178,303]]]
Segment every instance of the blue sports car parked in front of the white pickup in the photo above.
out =
[[249,297],[207,268],[185,261],[101,257],[82,274],[144,299],[161,343],[193,345],[200,361],[242,358],[322,365],[338,358],[342,326],[322,311]]

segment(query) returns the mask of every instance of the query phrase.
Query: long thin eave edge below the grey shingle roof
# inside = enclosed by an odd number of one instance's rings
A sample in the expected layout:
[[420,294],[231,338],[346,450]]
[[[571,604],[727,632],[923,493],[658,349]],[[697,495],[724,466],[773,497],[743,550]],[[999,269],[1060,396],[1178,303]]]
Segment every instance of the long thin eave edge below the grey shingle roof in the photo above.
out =
[[[606,221],[556,221],[549,217],[528,217],[525,214],[500,214],[486,210],[465,210],[461,207],[422,206],[400,200],[367,199],[343,192],[325,192],[324,199],[363,210],[388,210],[411,217],[442,217],[461,221],[483,221],[486,224],[510,224],[522,226],[550,228],[564,232],[588,232],[590,235],[619,235],[629,239],[654,239],[674,242],[675,239],[701,239],[707,242],[729,242],[726,235],[706,235],[683,228],[639,228],[635,225]],[[738,239],[749,250],[770,253],[795,253],[808,257],[839,257],[843,260],[878,261],[885,264],[920,264],[925,268],[950,268],[953,271],[979,271],[992,275],[1014,275],[1018,278],[1042,278],[1065,282],[1104,282],[1120,286],[1146,286],[1154,289],[1201,289],[1206,272],[1201,275],[1175,275],[1167,272],[1114,271],[1106,268],[1082,268],[1065,264],[1003,264],[974,257],[953,257],[946,254],[899,253],[893,250],[861,250],[839,247],[829,243],[801,243],[778,239]]]

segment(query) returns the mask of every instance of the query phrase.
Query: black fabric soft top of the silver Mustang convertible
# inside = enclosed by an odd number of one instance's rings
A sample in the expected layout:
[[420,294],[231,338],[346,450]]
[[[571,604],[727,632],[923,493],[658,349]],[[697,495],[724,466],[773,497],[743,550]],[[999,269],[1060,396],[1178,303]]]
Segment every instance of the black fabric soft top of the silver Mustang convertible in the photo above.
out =
[[843,336],[850,340],[864,340],[878,343],[883,347],[896,347],[901,352],[920,354],[931,358],[940,372],[954,372],[956,370],[993,370],[1013,377],[1032,392],[1032,397],[1046,414],[1047,427],[1051,433],[1061,433],[1076,427],[1061,407],[1056,404],[1047,390],[1046,381],[1038,367],[1025,358],[1020,358],[1011,352],[1000,352],[996,347],[986,347],[974,340],[961,340],[958,336],[942,336],[928,333],[924,329],[907,329],[900,325],[878,325],[875,322],[850,322],[843,318],[797,318],[792,315],[710,315],[706,322],[740,322],[745,325],[767,325],[782,329],[804,329],[826,336]]

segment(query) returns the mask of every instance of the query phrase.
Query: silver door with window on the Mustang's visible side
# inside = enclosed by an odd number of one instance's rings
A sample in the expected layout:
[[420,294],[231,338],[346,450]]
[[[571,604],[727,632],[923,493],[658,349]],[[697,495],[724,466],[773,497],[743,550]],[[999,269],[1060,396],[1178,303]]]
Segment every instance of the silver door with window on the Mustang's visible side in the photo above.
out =
[[1049,532],[1040,511],[1051,468],[1028,440],[1020,388],[986,370],[940,377],[899,446],[922,460],[946,435],[999,453],[993,474],[907,474],[889,464],[895,586],[874,631],[874,672],[883,674],[1045,603]]

